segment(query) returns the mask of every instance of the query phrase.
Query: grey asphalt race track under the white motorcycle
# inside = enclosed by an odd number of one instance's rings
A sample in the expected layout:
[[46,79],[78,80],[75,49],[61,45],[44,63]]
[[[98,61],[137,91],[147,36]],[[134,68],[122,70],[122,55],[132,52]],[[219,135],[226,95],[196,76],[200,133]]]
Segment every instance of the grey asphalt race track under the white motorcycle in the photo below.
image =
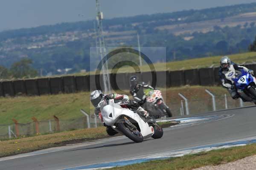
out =
[[256,136],[256,107],[190,115],[190,117],[204,115],[229,116],[219,120],[180,125],[177,126],[178,128],[169,127],[164,129],[163,138],[150,138],[142,143],[134,143],[120,136],[35,156],[6,158],[8,160],[0,158],[0,170],[59,170]]

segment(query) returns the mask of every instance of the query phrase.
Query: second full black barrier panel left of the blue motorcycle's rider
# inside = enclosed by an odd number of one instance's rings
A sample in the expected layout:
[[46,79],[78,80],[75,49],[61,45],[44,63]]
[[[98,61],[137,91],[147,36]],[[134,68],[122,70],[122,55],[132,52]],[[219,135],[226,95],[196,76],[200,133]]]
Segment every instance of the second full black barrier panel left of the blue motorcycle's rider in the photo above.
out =
[[198,69],[189,69],[184,71],[185,84],[200,85]]

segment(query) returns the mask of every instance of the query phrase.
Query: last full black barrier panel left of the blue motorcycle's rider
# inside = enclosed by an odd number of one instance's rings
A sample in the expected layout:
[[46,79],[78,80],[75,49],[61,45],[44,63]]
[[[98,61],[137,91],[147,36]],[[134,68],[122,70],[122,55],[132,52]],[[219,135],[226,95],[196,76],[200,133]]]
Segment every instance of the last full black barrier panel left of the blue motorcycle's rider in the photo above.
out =
[[199,69],[199,80],[201,86],[210,86],[215,84],[213,68]]

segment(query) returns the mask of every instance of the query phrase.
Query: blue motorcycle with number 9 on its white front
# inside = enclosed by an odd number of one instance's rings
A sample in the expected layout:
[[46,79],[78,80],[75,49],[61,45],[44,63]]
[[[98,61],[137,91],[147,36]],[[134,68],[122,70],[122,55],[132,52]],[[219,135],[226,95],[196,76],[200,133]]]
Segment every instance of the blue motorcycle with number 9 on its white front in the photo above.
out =
[[236,71],[232,80],[241,98],[256,104],[256,78],[250,72],[241,69]]

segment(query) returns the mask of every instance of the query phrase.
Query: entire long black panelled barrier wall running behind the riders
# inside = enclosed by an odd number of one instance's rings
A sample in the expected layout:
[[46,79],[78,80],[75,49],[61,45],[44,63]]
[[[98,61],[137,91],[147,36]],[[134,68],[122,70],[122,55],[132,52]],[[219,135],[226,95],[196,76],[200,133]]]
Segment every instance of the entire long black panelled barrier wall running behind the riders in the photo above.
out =
[[[256,72],[256,64],[245,65]],[[218,67],[204,69],[190,69],[180,71],[157,72],[157,87],[189,85],[221,85],[218,76]],[[146,84],[152,82],[151,72],[119,73],[110,75],[113,89],[130,89],[129,80],[132,75],[137,75],[139,81]],[[103,78],[100,75],[103,88]],[[15,96],[18,94],[44,95],[58,94],[60,92],[92,91],[96,89],[95,75],[66,76],[58,78],[39,78],[30,80],[0,82],[0,96]]]

